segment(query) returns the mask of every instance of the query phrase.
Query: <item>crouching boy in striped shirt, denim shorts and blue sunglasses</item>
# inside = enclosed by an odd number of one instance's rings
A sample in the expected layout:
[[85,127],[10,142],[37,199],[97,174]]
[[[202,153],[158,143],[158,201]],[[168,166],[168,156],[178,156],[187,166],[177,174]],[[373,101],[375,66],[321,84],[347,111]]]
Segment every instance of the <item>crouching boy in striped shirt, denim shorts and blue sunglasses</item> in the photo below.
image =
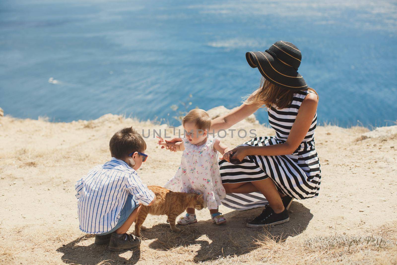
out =
[[116,132],[109,143],[112,160],[91,169],[75,184],[80,230],[95,234],[96,244],[114,251],[137,248],[141,239],[127,234],[141,203],[152,205],[156,195],[136,170],[145,162],[146,143],[133,128]]

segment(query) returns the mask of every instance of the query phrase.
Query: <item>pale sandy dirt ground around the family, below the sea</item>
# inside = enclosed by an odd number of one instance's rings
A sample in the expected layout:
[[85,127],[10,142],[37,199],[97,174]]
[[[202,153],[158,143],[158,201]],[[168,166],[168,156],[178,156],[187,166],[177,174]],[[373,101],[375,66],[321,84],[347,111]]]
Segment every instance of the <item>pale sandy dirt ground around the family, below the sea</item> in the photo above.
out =
[[[109,140],[117,130],[133,126],[147,135],[167,126],[111,114],[71,123],[6,116],[0,125],[0,264],[397,263],[396,131],[368,138],[362,136],[366,128],[318,126],[320,196],[293,201],[285,224],[246,228],[262,207],[221,206],[227,218],[221,226],[204,209],[180,233],[170,230],[165,217],[149,216],[139,250],[112,252],[80,232],[75,181],[110,159]],[[247,120],[234,128],[274,135]],[[224,142],[234,147],[248,139],[228,135]],[[181,154],[156,142],[153,135],[146,139],[149,159],[139,174],[143,182],[162,186]]]

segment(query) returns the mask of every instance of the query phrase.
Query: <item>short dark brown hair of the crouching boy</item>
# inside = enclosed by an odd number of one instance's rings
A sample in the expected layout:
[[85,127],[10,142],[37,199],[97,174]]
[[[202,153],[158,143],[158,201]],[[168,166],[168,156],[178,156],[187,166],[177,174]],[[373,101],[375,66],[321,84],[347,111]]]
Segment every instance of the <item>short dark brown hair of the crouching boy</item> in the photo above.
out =
[[125,159],[132,152],[143,152],[146,143],[142,135],[132,127],[127,127],[116,132],[109,142],[110,154],[117,159]]

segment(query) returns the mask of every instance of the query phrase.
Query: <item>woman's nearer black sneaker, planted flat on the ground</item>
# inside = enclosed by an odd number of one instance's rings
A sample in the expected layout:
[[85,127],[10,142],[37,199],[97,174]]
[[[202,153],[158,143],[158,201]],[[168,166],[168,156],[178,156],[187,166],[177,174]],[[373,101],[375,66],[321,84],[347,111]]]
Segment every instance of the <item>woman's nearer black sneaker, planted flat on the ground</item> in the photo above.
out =
[[247,226],[251,228],[258,228],[264,226],[272,226],[276,224],[282,224],[289,221],[289,215],[287,209],[284,209],[281,213],[275,213],[269,205],[265,206],[262,213],[251,222],[247,222]]

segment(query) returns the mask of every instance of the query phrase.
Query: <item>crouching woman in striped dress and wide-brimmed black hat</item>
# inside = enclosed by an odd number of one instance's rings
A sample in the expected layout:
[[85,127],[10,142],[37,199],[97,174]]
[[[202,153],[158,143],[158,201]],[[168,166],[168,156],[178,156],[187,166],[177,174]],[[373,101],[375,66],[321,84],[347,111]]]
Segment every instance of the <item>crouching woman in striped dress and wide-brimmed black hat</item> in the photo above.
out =
[[265,205],[247,223],[255,228],[289,221],[287,209],[294,198],[318,195],[321,170],[314,148],[318,95],[297,72],[302,55],[292,43],[278,41],[265,52],[247,52],[246,58],[262,74],[261,86],[241,106],[212,120],[211,130],[228,129],[259,108],[268,110],[276,135],[251,139],[219,161],[227,192],[222,204],[241,210]]

